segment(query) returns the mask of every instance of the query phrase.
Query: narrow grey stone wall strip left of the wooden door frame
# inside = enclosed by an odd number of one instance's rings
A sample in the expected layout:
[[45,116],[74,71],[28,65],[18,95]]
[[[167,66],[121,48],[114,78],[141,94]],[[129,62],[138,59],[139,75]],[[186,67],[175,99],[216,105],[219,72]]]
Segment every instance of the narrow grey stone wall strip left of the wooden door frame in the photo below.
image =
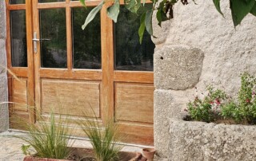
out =
[[0,1],[0,132],[9,128],[7,77],[6,77],[6,8]]

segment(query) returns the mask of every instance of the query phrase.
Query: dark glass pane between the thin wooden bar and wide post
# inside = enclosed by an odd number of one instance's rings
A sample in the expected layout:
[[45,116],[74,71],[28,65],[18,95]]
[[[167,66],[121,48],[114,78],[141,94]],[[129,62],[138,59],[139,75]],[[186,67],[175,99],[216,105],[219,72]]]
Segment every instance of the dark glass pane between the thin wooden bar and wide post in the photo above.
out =
[[101,26],[98,13],[86,29],[81,26],[92,8],[72,9],[74,69],[101,69]]

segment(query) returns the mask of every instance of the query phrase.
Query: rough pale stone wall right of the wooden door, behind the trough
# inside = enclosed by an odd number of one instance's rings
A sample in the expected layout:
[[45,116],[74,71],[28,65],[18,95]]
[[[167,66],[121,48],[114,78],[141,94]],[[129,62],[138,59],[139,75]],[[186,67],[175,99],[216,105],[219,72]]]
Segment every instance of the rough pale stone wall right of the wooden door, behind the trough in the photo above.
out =
[[[248,15],[234,29],[229,1],[218,13],[212,1],[174,6],[174,19],[162,28],[154,20],[154,146],[160,160],[170,160],[170,118],[207,85],[234,96],[240,73],[256,75],[256,18]],[[177,125],[178,126],[178,125]]]

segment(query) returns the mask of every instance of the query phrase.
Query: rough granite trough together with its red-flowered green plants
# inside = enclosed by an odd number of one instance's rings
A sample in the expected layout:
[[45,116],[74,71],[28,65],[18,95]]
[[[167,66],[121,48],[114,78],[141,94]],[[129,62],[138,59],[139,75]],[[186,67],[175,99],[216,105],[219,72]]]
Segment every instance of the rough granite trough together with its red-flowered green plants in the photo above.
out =
[[254,160],[255,87],[255,77],[243,73],[236,100],[210,88],[207,96],[191,101],[186,121],[170,120],[170,159]]

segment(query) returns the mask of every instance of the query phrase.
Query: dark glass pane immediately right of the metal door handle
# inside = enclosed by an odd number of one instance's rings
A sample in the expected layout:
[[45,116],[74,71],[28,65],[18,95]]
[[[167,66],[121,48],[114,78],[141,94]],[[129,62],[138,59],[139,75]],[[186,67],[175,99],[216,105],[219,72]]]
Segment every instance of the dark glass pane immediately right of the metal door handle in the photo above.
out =
[[39,10],[41,66],[66,68],[65,9]]

